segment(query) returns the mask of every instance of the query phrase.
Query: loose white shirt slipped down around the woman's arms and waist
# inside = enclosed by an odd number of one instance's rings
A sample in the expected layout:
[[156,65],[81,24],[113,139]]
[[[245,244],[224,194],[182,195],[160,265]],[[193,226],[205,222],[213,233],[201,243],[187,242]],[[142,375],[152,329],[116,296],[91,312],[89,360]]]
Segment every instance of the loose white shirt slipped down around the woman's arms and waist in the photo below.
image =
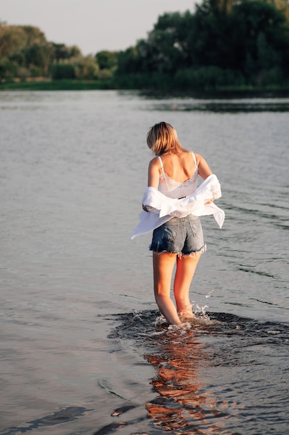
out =
[[214,174],[207,177],[195,192],[181,199],[166,197],[156,188],[148,187],[143,194],[142,204],[148,208],[149,212],[142,211],[139,214],[140,222],[132,233],[132,239],[160,227],[172,217],[186,217],[190,214],[213,215],[219,227],[222,228],[225,212],[216,204],[205,205],[210,199],[218,199],[221,196],[220,183]]

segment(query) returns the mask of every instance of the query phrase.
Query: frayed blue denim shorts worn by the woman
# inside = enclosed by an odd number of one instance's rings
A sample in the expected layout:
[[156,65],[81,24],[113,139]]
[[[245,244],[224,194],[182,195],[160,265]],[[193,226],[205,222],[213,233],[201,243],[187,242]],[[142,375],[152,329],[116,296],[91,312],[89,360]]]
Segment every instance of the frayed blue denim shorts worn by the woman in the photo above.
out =
[[191,255],[204,252],[202,224],[198,216],[173,217],[152,233],[150,251]]

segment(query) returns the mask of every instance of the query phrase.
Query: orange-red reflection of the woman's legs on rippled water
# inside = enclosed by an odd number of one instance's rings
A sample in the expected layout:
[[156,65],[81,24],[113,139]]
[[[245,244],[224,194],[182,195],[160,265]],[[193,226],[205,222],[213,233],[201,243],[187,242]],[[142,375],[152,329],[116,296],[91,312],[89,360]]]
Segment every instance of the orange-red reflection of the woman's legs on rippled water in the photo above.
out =
[[[208,427],[211,416],[226,418],[227,404],[202,391],[198,369],[206,363],[206,351],[193,331],[168,334],[159,345],[159,354],[145,356],[157,371],[151,384],[158,396],[146,404],[153,424],[165,431],[200,433]],[[223,429],[220,432],[219,423],[206,433],[231,434]]]

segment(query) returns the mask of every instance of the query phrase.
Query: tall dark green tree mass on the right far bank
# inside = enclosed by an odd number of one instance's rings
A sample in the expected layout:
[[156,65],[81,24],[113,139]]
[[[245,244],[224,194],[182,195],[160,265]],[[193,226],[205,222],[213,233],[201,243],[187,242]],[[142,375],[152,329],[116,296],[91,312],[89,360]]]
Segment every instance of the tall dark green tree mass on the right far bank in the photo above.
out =
[[289,74],[288,32],[269,1],[204,0],[193,14],[159,17],[146,40],[119,54],[117,74],[146,85],[278,84]]

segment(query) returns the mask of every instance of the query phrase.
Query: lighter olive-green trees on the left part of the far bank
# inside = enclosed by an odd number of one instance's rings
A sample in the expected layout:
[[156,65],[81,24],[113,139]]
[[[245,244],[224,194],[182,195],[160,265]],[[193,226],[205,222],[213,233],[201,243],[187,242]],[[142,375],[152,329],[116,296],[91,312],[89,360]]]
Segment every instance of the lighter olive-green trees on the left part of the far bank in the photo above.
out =
[[74,45],[55,44],[34,26],[0,23],[0,79],[35,77],[96,80],[112,77],[116,53],[83,56]]

